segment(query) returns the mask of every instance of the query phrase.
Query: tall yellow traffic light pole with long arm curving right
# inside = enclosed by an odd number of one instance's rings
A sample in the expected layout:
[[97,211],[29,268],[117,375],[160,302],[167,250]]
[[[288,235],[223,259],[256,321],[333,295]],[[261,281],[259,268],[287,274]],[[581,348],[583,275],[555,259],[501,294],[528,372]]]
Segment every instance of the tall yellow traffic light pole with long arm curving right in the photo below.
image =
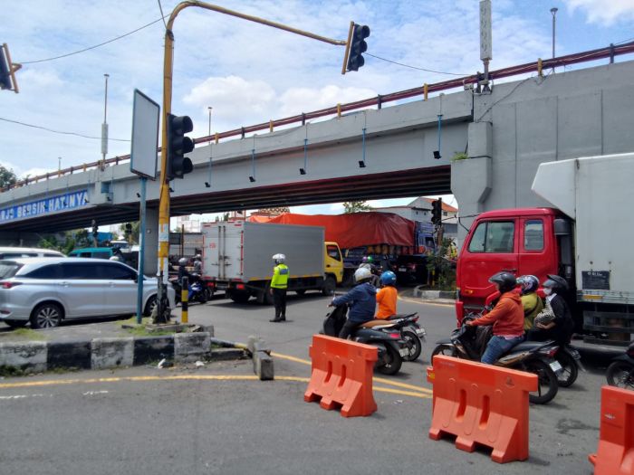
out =
[[168,169],[168,115],[171,113],[172,107],[172,73],[174,65],[174,33],[172,27],[178,14],[189,6],[197,6],[205,8],[220,14],[228,14],[255,22],[265,24],[289,33],[306,36],[323,43],[330,43],[337,46],[346,46],[348,42],[344,40],[333,40],[318,34],[305,32],[297,28],[292,28],[285,24],[279,24],[252,16],[249,14],[241,14],[233,10],[228,10],[221,6],[207,4],[205,2],[187,1],[176,5],[172,13],[169,15],[168,24],[165,31],[165,54],[163,57],[163,130],[161,132],[161,149],[160,149],[160,195],[159,195],[159,289],[158,289],[158,306],[157,313],[153,316],[154,323],[168,323],[169,321],[169,303],[167,299],[168,284],[168,257],[169,257],[169,180],[167,175]]

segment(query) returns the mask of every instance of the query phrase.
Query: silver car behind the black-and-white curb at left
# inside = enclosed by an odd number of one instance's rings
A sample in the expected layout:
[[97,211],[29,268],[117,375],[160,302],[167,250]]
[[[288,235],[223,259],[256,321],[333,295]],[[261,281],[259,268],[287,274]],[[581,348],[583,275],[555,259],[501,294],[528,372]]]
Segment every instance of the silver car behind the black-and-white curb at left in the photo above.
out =
[[[157,280],[143,278],[143,313],[157,302]],[[0,321],[10,327],[53,328],[62,319],[134,315],[138,274],[121,262],[97,259],[0,261]],[[168,300],[175,307],[174,290]]]

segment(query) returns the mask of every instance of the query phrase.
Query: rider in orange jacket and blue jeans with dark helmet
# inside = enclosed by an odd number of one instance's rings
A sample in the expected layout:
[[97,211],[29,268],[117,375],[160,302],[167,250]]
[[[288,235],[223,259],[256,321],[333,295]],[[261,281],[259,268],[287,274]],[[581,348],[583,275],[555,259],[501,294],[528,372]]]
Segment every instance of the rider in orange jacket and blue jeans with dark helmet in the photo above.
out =
[[514,292],[517,280],[510,272],[497,272],[489,278],[500,292],[495,308],[484,317],[466,323],[469,326],[492,325],[493,337],[486,344],[485,354],[480,359],[492,365],[512,347],[524,340],[524,309],[522,300]]

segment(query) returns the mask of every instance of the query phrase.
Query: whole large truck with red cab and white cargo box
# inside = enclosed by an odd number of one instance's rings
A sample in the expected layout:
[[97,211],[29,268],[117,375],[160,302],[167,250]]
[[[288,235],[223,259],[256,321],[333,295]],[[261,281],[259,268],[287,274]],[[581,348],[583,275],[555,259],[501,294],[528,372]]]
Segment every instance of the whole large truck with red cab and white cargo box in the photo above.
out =
[[489,211],[472,224],[458,257],[456,317],[482,309],[498,271],[566,279],[586,341],[627,345],[634,333],[634,154],[539,166],[533,192],[554,208]]

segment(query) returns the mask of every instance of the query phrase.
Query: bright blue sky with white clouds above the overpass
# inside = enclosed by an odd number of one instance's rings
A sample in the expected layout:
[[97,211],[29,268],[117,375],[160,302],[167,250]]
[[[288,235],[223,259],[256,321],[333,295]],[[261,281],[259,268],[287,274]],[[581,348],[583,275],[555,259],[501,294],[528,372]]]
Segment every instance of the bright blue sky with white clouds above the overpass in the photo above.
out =
[[[178,2],[0,2],[0,43],[23,64],[17,72],[20,93],[0,91],[0,164],[22,178],[56,170],[60,162],[67,167],[100,159],[104,73],[109,74],[108,157],[129,154],[133,90],[161,102],[165,26],[159,5],[168,15]],[[335,39],[347,37],[351,21],[368,24],[368,52],[391,62],[366,55],[360,71],[341,75],[341,46],[187,8],[173,28],[172,110],[193,119],[194,137],[207,135],[208,107],[212,132],[222,132],[456,77],[393,62],[460,75],[482,71],[478,0],[224,0],[216,5]],[[492,5],[492,70],[551,56],[553,6],[559,9],[557,55],[634,40],[634,0],[493,0]],[[86,52],[42,61],[126,33]],[[451,198],[448,202],[456,205]],[[342,208],[327,204],[293,211]]]

